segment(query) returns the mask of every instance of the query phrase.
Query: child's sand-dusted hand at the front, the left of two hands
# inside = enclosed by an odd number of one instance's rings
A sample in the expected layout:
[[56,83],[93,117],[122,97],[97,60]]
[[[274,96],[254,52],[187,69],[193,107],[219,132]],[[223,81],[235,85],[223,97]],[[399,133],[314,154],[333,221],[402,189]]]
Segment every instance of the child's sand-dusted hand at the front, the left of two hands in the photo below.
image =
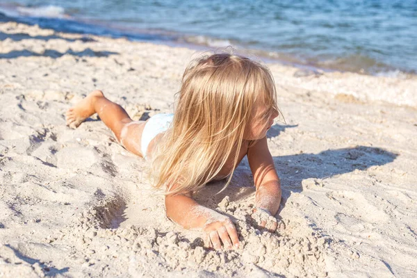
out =
[[203,227],[206,233],[206,247],[214,247],[215,250],[222,249],[222,244],[226,249],[232,249],[239,246],[238,231],[230,218],[224,217],[224,220],[216,220],[207,223]]

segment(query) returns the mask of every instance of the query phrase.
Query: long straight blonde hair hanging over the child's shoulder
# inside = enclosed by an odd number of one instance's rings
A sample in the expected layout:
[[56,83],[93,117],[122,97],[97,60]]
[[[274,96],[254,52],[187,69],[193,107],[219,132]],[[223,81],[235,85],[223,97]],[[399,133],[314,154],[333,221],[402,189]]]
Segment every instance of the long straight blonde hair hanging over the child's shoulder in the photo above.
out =
[[[171,127],[152,162],[154,186],[165,188],[165,194],[202,188],[222,170],[229,156],[236,167],[255,101],[270,107],[270,113],[278,111],[268,68],[229,53],[191,62],[178,94]],[[224,188],[233,172],[234,167]]]

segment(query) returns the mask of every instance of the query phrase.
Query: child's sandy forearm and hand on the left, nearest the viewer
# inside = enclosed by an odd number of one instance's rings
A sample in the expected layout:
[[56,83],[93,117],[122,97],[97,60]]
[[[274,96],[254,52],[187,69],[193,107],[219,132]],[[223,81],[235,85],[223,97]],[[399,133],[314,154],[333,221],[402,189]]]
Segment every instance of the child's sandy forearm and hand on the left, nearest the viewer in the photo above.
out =
[[167,217],[185,229],[202,229],[209,245],[216,250],[239,245],[238,232],[230,218],[210,208],[201,206],[191,194],[165,196]]

